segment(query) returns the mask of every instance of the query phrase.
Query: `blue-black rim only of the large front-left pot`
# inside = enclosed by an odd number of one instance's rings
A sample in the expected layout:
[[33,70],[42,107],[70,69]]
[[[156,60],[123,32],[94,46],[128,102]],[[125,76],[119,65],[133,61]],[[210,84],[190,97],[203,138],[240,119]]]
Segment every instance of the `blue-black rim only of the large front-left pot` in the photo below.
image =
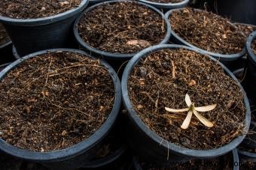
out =
[[[87,57],[96,59],[92,57],[91,55],[87,54],[84,51],[78,50],[78,49],[47,49],[40,52],[35,52],[29,55],[26,55],[23,58],[18,59],[17,61],[14,61],[12,64],[10,64],[8,67],[5,67],[4,70],[0,73],[0,79],[3,79],[5,75],[10,72],[14,67],[21,64],[23,61],[29,58],[36,57],[37,55],[42,55],[48,52],[75,52],[81,55],[85,55]],[[71,157],[75,157],[79,154],[83,154],[85,151],[89,150],[90,148],[93,148],[96,143],[98,143],[101,139],[103,139],[107,133],[110,131],[111,127],[114,125],[114,121],[117,118],[120,104],[121,104],[121,91],[120,91],[120,80],[117,76],[117,73],[115,73],[114,69],[105,61],[100,61],[102,65],[104,65],[108,69],[108,73],[111,76],[111,79],[114,83],[114,105],[111,109],[111,113],[108,115],[107,120],[102,124],[101,127],[99,127],[98,130],[96,130],[93,135],[85,139],[84,141],[72,145],[69,148],[64,148],[62,150],[57,151],[48,151],[48,152],[38,152],[38,151],[28,151],[25,149],[14,147],[11,144],[8,144],[5,142],[5,140],[0,139],[0,150],[4,151],[7,154],[10,154],[14,157],[19,157],[23,160],[30,160],[35,162],[56,162],[60,160],[68,160]]]

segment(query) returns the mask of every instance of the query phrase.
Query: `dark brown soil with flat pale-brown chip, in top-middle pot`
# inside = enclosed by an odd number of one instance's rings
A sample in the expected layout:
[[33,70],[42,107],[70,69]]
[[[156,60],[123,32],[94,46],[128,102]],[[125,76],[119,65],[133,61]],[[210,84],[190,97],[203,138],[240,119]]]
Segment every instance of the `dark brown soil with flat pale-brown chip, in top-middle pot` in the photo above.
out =
[[84,14],[78,25],[84,42],[111,53],[139,52],[166,34],[162,16],[136,2],[104,4]]

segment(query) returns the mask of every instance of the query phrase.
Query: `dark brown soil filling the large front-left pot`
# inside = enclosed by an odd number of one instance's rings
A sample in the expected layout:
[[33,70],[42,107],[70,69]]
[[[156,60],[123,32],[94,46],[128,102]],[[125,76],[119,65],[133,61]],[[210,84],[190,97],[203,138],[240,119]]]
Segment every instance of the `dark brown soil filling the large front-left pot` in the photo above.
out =
[[0,83],[2,139],[53,151],[87,139],[108,118],[114,85],[108,70],[72,52],[24,61]]

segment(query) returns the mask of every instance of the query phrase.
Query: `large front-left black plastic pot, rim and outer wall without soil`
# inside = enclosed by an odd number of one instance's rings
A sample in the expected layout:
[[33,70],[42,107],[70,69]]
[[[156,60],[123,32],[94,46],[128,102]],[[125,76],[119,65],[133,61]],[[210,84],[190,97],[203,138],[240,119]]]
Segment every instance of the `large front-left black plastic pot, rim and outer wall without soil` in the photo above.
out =
[[[8,67],[2,70],[2,72],[0,73],[0,80],[3,79],[5,75],[8,74],[8,72],[13,70],[19,64],[23,63],[23,61],[25,61],[26,59],[33,58],[37,55],[42,55],[44,53],[58,51],[76,52],[93,58],[89,54],[77,49],[49,49],[41,52],[35,52],[31,55],[26,55],[25,57],[14,61],[14,63],[10,64]],[[14,147],[13,145],[5,142],[3,139],[0,139],[0,150],[13,157],[26,160],[28,162],[41,163],[42,165],[53,169],[75,169],[83,166],[85,163],[90,161],[99,150],[102,140],[105,139],[105,136],[107,136],[111,128],[114,126],[121,103],[120,81],[117,77],[117,73],[115,73],[113,68],[105,61],[101,60],[100,62],[108,70],[111,79],[114,82],[115,97],[111,113],[109,114],[105,123],[102,124],[102,126],[99,128],[99,130],[96,131],[96,133],[93,133],[92,136],[85,139],[83,142],[78,143],[77,145],[73,145],[69,148],[58,151],[49,151],[45,153],[27,151],[25,149]]]

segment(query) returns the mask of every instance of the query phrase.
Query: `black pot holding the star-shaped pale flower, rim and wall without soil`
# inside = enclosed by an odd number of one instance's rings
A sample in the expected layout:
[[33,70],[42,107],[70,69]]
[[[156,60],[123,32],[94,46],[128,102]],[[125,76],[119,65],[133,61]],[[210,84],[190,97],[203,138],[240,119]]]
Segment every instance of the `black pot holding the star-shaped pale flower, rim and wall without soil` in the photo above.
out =
[[[127,82],[130,76],[130,72],[133,70],[133,67],[135,67],[135,65],[140,61],[141,58],[145,58],[145,55],[148,55],[149,53],[155,52],[160,49],[188,49],[206,55],[202,51],[198,51],[197,49],[193,49],[187,46],[166,44],[152,46],[148,49],[142,50],[137,55],[135,55],[126,65],[126,68],[123,71],[121,88],[123,105],[126,107],[128,111],[127,115],[129,117],[129,121],[127,121],[126,124],[126,140],[133,148],[133,151],[135,151],[139,157],[145,158],[147,162],[166,165],[171,162],[182,162],[195,158],[207,159],[210,157],[218,157],[236,148],[236,146],[239,145],[239,143],[242,142],[242,140],[245,138],[245,135],[239,136],[236,139],[233,139],[233,141],[229,144],[221,146],[217,149],[207,151],[192,150],[180,147],[178,145],[174,145],[162,139],[160,136],[157,135],[157,133],[154,133],[152,130],[150,130],[139,118],[139,115],[137,115],[135,109],[133,109],[133,105],[130,101],[128,93]],[[228,76],[234,79],[234,81],[236,81],[236,83],[239,85],[239,88],[241,88],[246,108],[245,131],[247,132],[251,120],[251,111],[248,99],[246,97],[245,91],[242,88],[242,85],[240,85],[239,81],[236,79],[233,73],[231,73],[230,70],[227,69],[227,67],[221,64],[215,58],[212,58],[210,56],[209,58],[220,64],[221,67],[224,68],[225,73],[227,73]]]

